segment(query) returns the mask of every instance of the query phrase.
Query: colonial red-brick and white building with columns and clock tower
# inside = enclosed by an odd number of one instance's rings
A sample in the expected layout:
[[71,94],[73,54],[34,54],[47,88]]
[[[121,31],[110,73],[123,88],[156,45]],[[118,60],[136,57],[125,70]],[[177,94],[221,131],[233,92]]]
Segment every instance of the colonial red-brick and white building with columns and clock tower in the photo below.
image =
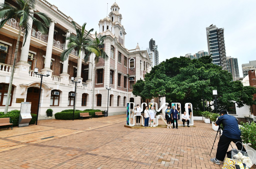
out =
[[[5,0],[12,6],[16,3]],[[126,102],[141,103],[139,97],[132,94],[136,80],[144,79],[144,75],[150,71],[150,59],[146,50],[140,47],[128,50],[125,48],[125,29],[121,25],[122,15],[119,6],[114,3],[111,6],[109,17],[99,21],[99,33],[97,37],[106,35],[104,45],[100,46],[109,56],[108,60],[100,59],[95,65],[92,54],[88,61],[80,59],[78,63],[78,51],[73,50],[69,58],[62,62],[60,54],[67,49],[66,37],[74,34],[75,29],[71,23],[71,17],[63,14],[56,6],[45,0],[36,1],[36,11],[48,14],[52,18],[51,26],[47,35],[42,35],[32,25],[31,32],[24,44],[23,35],[17,55],[9,111],[20,109],[18,99],[31,102],[31,113],[37,113],[39,94],[41,94],[39,115],[46,115],[46,110],[52,108],[54,113],[66,109],[72,109],[74,105],[75,84],[71,77],[81,78],[77,84],[76,107],[78,110],[92,108],[106,110],[109,97],[109,115],[123,114],[126,112]],[[14,59],[15,46],[18,37],[19,20],[11,19],[0,29],[0,111],[4,111],[10,74]],[[78,28],[81,28],[76,23]],[[94,39],[95,35],[90,34]],[[81,53],[82,57],[84,53]],[[79,68],[78,68],[79,65]],[[40,93],[40,76],[34,73],[34,68],[39,73],[49,77],[43,77],[42,91]],[[78,72],[78,77],[77,76]],[[95,83],[94,83],[95,82]],[[105,86],[111,86],[110,94]],[[93,92],[94,89],[94,92]],[[94,93],[94,95],[93,95]],[[94,103],[92,102],[94,98]],[[150,102],[147,100],[146,102]]]

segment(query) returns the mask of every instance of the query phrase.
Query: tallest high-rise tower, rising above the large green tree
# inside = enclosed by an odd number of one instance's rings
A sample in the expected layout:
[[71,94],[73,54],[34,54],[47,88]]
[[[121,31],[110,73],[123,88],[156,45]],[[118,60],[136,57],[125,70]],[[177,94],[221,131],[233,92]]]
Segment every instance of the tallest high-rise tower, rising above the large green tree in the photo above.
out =
[[211,55],[212,63],[227,70],[226,49],[224,40],[224,28],[217,28],[216,25],[206,28],[208,54]]

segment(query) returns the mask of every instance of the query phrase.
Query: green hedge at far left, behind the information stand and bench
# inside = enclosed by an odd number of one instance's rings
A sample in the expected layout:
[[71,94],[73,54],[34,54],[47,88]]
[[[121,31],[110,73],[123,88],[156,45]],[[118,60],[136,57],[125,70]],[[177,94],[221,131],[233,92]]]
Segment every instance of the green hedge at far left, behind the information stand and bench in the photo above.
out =
[[[18,126],[19,124],[19,110],[12,110],[9,111],[7,114],[4,114],[4,112],[0,112],[0,118],[7,118],[10,117],[11,121],[13,121],[13,126]],[[35,124],[36,123],[36,114],[31,114],[32,119],[30,120],[29,124]]]

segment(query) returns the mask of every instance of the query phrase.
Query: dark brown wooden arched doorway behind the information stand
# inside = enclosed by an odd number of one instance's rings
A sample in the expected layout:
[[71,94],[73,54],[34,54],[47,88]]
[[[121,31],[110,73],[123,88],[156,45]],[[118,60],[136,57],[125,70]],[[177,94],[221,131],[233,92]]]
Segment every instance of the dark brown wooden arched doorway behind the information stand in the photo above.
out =
[[39,88],[36,87],[30,87],[27,90],[27,98],[26,102],[31,102],[31,113],[37,114],[37,107],[39,103]]

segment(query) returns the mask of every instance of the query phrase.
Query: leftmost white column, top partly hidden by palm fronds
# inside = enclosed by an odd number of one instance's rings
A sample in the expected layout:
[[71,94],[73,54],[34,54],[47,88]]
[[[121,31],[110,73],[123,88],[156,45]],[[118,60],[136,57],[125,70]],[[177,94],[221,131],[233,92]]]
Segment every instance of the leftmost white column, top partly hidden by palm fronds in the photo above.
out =
[[[34,12],[33,9],[30,9],[30,12]],[[31,27],[30,27],[30,29],[28,29],[28,35],[27,35],[27,39],[26,39],[25,44],[24,44],[25,39],[23,39],[22,50],[21,50],[21,54],[20,54],[20,62],[25,62],[25,63],[28,63],[28,51],[29,51],[29,46],[30,46],[31,30],[32,30],[33,20],[31,18],[29,18],[28,23],[29,23],[29,25],[31,25]]]

